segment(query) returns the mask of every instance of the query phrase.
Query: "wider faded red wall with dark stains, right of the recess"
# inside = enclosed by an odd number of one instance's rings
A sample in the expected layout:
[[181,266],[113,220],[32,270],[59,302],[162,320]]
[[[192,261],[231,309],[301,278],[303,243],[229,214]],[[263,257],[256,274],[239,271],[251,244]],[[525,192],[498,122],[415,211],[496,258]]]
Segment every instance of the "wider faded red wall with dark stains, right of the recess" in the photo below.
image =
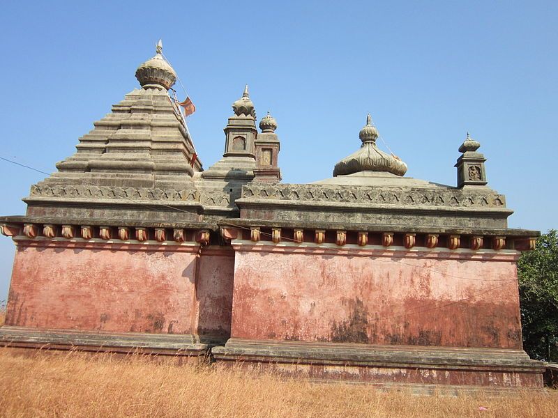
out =
[[513,254],[264,248],[236,252],[233,337],[522,347]]

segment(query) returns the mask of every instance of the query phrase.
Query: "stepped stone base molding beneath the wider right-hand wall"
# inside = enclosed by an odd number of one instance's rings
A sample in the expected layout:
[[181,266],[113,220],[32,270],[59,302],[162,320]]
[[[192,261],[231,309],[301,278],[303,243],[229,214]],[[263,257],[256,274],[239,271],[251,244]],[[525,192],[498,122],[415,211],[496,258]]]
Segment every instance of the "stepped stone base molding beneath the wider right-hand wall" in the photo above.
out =
[[522,350],[229,339],[217,362],[310,380],[374,385],[451,385],[490,389],[543,387],[545,364]]

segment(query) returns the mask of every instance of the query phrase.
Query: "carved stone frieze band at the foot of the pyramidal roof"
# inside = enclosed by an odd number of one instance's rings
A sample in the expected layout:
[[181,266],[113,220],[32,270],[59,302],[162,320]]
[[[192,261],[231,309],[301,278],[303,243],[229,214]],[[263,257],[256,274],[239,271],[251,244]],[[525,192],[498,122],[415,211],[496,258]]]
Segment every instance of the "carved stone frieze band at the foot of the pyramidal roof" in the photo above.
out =
[[30,196],[63,197],[64,199],[129,199],[138,201],[199,201],[194,189],[147,189],[116,186],[52,186],[32,185]]

